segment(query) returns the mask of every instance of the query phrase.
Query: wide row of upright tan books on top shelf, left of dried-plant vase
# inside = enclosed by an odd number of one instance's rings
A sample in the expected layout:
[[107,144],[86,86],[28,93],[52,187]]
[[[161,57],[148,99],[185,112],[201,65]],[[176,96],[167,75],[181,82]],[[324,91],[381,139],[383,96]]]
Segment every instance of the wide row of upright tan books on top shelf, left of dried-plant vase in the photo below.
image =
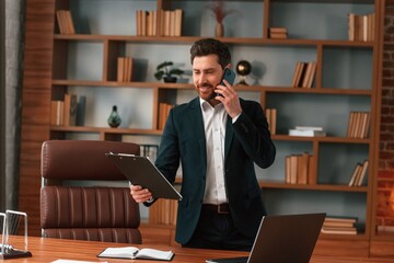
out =
[[[137,10],[138,36],[181,36],[183,10]],[[158,21],[160,20],[160,21]]]

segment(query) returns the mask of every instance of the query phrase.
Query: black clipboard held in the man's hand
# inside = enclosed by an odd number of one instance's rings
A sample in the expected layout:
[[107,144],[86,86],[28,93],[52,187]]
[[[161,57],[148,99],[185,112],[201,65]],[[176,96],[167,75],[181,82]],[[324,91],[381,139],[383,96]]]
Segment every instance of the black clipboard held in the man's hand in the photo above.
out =
[[116,164],[131,184],[149,188],[154,198],[182,199],[182,195],[148,157],[114,152],[105,153],[105,156]]

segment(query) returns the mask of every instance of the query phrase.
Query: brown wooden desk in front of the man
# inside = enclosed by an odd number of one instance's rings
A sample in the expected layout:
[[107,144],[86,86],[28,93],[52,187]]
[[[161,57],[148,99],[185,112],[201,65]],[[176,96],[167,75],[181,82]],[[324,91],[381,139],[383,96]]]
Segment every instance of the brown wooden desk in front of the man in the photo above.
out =
[[[13,237],[13,245],[20,245],[23,248],[23,238]],[[155,262],[148,260],[115,260],[115,259],[100,259],[96,255],[107,247],[126,247],[130,244],[124,243],[106,243],[106,242],[90,242],[90,241],[76,241],[65,239],[48,239],[30,237],[28,238],[28,251],[32,252],[32,258],[7,260],[4,263],[14,262],[51,262],[58,259],[62,260],[80,260],[80,261],[93,261],[93,262]],[[138,244],[138,248],[146,248],[148,245]],[[227,258],[227,256],[242,256],[247,255],[247,252],[237,251],[224,251],[224,250],[200,250],[200,249],[185,249],[185,248],[171,248],[165,245],[149,245],[152,249],[172,250],[175,256],[172,263],[204,263],[206,259],[212,258]],[[373,263],[387,263],[394,262],[392,260],[384,259],[356,259],[356,258],[329,258],[329,256],[312,256],[311,263],[354,263],[354,262],[373,262]]]

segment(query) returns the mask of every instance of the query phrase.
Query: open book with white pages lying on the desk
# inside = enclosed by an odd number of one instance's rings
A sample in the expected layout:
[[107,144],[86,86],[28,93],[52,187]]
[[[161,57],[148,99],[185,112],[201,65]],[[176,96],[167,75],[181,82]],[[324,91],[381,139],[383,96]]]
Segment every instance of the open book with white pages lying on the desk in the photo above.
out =
[[172,251],[163,251],[157,249],[138,249],[136,247],[124,248],[106,248],[101,252],[99,258],[113,258],[113,259],[144,259],[144,260],[161,260],[171,261],[174,256]]

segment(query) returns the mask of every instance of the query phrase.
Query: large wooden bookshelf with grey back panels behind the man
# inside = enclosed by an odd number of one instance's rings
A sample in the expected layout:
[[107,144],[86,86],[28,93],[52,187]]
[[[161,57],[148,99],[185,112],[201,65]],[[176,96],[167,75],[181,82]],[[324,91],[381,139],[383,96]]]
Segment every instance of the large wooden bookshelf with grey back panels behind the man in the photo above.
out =
[[[22,209],[31,211],[31,231],[35,235],[39,235],[38,206],[23,204],[30,198],[38,204],[39,183],[31,187],[28,182],[39,174],[42,141],[100,139],[159,145],[161,103],[174,105],[195,96],[187,73],[192,68],[189,46],[200,37],[215,35],[215,20],[204,1],[101,0],[93,4],[88,0],[51,0],[42,4],[44,8],[37,10],[38,3],[27,2],[26,30],[31,35],[25,52],[21,156],[20,203]],[[375,116],[381,2],[253,0],[227,4],[237,11],[224,20],[225,33],[220,39],[230,46],[234,65],[244,59],[253,67],[247,79],[251,85],[235,89],[240,96],[276,112],[273,139],[277,159],[269,169],[257,169],[268,213],[326,211],[329,216],[355,217],[357,235],[322,235],[316,251],[325,253],[326,248],[335,248],[339,254],[368,256],[364,248],[374,232],[371,207],[379,142]],[[181,36],[138,35],[136,11],[162,9],[183,10]],[[60,34],[57,10],[71,11],[74,34]],[[349,41],[350,12],[375,13],[373,41]],[[42,20],[35,16],[37,13]],[[47,26],[39,27],[39,23]],[[253,30],[248,28],[251,23],[256,25]],[[270,38],[270,27],[286,27],[287,38]],[[42,67],[34,65],[34,56],[42,58]],[[118,79],[120,57],[132,58],[132,72],[125,81]],[[158,82],[153,73],[163,60],[186,70],[184,78],[177,83]],[[292,84],[299,61],[315,61],[314,80],[308,84],[311,88]],[[66,93],[86,99],[82,126],[50,125],[50,101],[62,100]],[[113,105],[123,118],[118,128],[106,124]],[[351,112],[369,113],[367,136],[347,136]],[[288,136],[294,126],[311,125],[322,126],[326,136]],[[286,157],[303,152],[313,156],[310,172],[316,176],[315,183],[285,183]],[[349,187],[355,165],[363,160],[369,160],[364,183]],[[167,231],[163,230],[166,224],[146,220],[144,229],[160,225],[161,232]],[[173,235],[173,226],[167,227]],[[338,240],[357,241],[359,245],[347,250]]]

